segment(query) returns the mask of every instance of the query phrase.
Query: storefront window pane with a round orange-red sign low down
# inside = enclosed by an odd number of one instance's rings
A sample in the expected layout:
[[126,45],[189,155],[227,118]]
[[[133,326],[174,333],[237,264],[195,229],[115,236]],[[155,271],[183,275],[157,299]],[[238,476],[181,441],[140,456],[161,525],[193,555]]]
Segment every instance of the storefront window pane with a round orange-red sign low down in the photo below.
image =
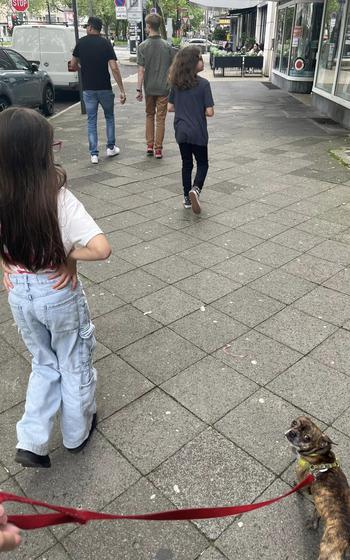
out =
[[313,78],[323,4],[297,4],[292,33],[290,76]]

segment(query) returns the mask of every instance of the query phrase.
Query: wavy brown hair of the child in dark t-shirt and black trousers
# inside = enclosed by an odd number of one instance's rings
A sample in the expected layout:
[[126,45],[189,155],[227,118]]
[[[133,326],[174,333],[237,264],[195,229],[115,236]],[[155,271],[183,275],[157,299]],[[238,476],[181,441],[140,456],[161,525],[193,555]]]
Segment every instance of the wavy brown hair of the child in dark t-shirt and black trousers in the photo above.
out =
[[180,49],[169,71],[171,87],[177,89],[191,89],[198,84],[197,65],[201,59],[198,47],[190,46]]

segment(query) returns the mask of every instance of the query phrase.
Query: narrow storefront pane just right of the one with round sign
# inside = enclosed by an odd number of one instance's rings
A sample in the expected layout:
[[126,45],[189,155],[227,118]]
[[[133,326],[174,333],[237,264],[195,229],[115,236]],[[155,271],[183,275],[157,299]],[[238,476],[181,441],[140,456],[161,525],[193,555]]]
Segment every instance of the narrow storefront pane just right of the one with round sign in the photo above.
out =
[[344,16],[344,0],[327,0],[325,10],[316,86],[331,93],[341,48],[340,27]]

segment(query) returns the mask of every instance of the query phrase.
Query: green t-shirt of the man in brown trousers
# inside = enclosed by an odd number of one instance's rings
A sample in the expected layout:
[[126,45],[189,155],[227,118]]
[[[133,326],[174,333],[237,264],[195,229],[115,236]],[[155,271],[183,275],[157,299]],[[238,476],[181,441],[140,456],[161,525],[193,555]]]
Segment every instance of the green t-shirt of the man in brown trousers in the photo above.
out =
[[145,69],[146,95],[168,95],[168,73],[173,61],[172,47],[160,35],[148,37],[137,50],[137,64]]

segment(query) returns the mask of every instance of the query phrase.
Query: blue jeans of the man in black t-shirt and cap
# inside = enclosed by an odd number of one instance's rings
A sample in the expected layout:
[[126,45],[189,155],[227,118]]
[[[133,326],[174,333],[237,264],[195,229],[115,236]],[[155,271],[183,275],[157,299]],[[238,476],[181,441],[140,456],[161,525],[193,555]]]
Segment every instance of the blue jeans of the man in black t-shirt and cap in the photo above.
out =
[[97,111],[102,106],[106,119],[107,148],[115,145],[114,93],[111,89],[86,90],[83,92],[88,117],[89,150],[92,156],[98,156]]

